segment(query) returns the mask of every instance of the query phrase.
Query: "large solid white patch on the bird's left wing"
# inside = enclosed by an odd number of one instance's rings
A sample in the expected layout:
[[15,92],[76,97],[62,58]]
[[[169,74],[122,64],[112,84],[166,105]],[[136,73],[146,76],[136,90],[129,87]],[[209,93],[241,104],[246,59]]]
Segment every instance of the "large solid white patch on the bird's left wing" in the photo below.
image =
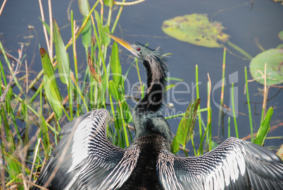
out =
[[74,170],[88,156],[87,146],[90,138],[89,134],[92,131],[92,128],[89,127],[89,124],[92,122],[90,118],[84,119],[75,129],[72,146],[72,164],[68,172]]

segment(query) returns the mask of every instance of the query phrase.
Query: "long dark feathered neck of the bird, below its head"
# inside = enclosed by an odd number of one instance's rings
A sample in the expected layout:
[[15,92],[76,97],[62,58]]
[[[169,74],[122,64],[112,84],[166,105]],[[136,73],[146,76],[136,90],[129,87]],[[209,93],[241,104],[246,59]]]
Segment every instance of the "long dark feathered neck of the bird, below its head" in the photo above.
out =
[[170,143],[170,126],[160,112],[165,98],[167,65],[159,57],[144,59],[143,64],[146,69],[147,90],[144,98],[134,107],[133,122],[136,138],[157,133]]

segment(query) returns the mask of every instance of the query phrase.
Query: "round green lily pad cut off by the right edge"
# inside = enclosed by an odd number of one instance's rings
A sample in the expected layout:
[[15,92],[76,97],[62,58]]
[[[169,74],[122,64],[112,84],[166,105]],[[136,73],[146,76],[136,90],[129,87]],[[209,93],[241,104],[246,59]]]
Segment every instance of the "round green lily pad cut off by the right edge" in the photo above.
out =
[[283,83],[283,49],[268,49],[251,60],[251,76],[264,84],[264,68],[266,66],[266,84],[276,85]]

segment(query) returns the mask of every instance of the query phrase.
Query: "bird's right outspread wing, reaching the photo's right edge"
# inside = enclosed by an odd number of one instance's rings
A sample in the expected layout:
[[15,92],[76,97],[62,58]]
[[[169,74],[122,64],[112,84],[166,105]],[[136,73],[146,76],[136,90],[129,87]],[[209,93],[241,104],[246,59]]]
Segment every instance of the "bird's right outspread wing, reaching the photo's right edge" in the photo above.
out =
[[163,189],[283,189],[282,160],[238,138],[191,158],[163,149],[156,167]]

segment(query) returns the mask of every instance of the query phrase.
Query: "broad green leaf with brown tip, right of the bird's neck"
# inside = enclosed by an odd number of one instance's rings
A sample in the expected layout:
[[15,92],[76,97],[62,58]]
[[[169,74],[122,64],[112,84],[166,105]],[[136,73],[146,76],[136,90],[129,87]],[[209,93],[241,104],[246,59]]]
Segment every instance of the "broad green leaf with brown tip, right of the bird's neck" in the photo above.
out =
[[183,147],[186,146],[189,138],[191,138],[191,135],[194,132],[197,108],[199,107],[200,103],[201,99],[196,99],[192,104],[189,105],[178,126],[176,138]]

